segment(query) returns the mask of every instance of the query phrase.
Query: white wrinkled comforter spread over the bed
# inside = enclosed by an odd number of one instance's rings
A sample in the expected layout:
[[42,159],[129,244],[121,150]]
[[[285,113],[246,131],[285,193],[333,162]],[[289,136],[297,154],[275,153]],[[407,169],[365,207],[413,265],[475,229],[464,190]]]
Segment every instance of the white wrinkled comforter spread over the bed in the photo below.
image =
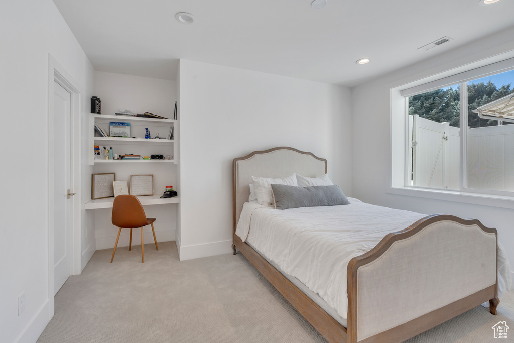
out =
[[[276,210],[245,203],[236,234],[286,273],[296,277],[346,319],[346,267],[389,232],[407,228],[424,214],[348,198],[350,205]],[[510,266],[501,245],[499,283],[510,289]],[[503,276],[503,278],[502,278]]]

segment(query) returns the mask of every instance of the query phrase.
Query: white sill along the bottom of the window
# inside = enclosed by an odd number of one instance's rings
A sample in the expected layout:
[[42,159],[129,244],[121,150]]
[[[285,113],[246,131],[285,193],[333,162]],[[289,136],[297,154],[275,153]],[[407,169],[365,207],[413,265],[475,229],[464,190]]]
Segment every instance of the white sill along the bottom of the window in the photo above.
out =
[[490,207],[514,209],[514,196],[501,196],[460,191],[436,190],[414,187],[391,187],[388,194],[422,197],[425,199],[451,201]]

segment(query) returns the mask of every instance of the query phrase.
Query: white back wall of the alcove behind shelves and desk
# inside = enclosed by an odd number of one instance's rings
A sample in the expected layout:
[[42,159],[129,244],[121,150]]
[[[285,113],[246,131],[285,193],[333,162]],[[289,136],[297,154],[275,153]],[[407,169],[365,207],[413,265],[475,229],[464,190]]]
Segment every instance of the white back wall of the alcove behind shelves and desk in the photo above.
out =
[[[150,112],[167,118],[173,118],[176,100],[175,81],[145,78],[122,74],[95,73],[95,95],[102,101],[102,114],[115,114],[120,109],[134,113]],[[120,120],[123,118],[120,116]],[[157,131],[158,132],[158,131]],[[156,132],[151,130],[152,136]],[[167,132],[160,132],[165,136]],[[144,136],[143,136],[144,137]],[[120,149],[130,149],[131,146],[118,146]],[[126,147],[126,148],[125,148]],[[160,146],[152,146],[155,154],[164,151]],[[145,148],[146,151],[146,148]],[[153,151],[153,150],[152,150]],[[116,151],[115,154],[130,153],[131,151]],[[134,152],[137,153],[137,152]],[[130,175],[153,174],[154,194],[162,194],[168,185],[176,188],[176,169],[174,164],[103,164],[95,165],[94,173],[116,173],[116,180],[130,180]],[[90,176],[89,176],[90,179]],[[89,194],[91,192],[89,191]],[[90,197],[89,197],[90,200]],[[113,248],[118,235],[118,228],[111,222],[112,209],[89,210],[95,212],[95,239],[97,249]],[[144,206],[146,216],[156,218],[154,223],[155,236],[158,242],[175,240],[177,205]],[[143,228],[143,240],[153,242],[150,226]],[[118,246],[128,246],[129,230],[122,230]],[[132,244],[141,244],[140,234],[133,233]]]

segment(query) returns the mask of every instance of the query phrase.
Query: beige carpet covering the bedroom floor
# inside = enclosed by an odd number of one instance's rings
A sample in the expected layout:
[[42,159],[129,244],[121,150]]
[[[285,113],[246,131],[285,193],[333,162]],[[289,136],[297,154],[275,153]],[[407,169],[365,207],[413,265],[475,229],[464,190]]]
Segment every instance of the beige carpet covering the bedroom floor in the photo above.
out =
[[[178,261],[175,242],[98,250],[56,295],[38,342],[325,342],[242,254]],[[482,306],[409,342],[488,342],[514,293],[492,316]],[[505,341],[505,340],[503,340]]]

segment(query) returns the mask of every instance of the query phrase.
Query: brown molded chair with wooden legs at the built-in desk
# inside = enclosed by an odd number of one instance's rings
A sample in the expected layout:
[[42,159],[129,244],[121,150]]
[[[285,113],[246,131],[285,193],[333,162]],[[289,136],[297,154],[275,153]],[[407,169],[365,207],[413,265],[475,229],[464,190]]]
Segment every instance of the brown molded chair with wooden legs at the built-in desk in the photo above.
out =
[[130,239],[128,240],[128,250],[132,246],[132,229],[141,228],[141,263],[144,263],[144,250],[143,250],[143,226],[152,225],[152,233],[154,234],[155,249],[157,247],[157,240],[155,239],[154,231],[155,218],[146,218],[144,214],[143,206],[139,202],[138,198],[133,195],[118,195],[114,198],[113,204],[113,225],[118,226],[118,238],[116,238],[116,244],[114,245],[113,258],[116,254],[116,246],[120,239],[120,233],[122,228],[130,229]]

